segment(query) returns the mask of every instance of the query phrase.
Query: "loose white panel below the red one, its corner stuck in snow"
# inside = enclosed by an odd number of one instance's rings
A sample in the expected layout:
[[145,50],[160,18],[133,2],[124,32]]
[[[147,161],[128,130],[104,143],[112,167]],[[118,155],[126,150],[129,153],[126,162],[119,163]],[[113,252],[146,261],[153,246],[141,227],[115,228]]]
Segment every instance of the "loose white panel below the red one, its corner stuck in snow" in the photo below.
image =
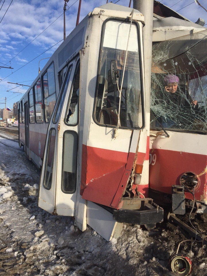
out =
[[87,224],[101,237],[110,241],[117,222],[113,220],[113,215],[110,212],[91,201],[87,201]]

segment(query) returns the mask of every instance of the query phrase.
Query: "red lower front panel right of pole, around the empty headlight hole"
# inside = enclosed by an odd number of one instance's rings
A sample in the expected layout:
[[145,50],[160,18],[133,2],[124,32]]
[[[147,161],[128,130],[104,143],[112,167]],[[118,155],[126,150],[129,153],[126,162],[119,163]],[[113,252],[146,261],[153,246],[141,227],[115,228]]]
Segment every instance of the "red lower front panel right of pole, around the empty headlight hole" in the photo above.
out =
[[[207,166],[207,156],[172,150],[154,149],[156,162],[150,165],[150,188],[164,193],[172,193],[172,185],[179,185],[181,175],[187,171],[200,175]],[[200,176],[200,187],[195,189],[197,200],[204,199],[206,193],[207,175]],[[186,198],[193,197],[186,193]]]

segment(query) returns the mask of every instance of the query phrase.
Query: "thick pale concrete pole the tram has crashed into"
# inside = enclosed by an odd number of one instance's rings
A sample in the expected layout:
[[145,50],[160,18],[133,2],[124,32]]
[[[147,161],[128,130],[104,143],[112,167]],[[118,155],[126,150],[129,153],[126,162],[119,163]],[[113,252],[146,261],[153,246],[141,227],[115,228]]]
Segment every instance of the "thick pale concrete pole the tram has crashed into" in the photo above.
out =
[[[145,74],[145,125],[147,129],[147,152],[149,149],[150,136],[150,93],[151,93],[151,68],[152,68],[152,27],[153,27],[153,0],[133,0],[133,8],[140,11],[144,16],[143,27],[144,45],[144,74]],[[147,153],[146,153],[147,154]],[[148,152],[149,154],[149,152]],[[145,157],[141,184],[149,185],[149,156]],[[146,195],[147,196],[147,195]]]

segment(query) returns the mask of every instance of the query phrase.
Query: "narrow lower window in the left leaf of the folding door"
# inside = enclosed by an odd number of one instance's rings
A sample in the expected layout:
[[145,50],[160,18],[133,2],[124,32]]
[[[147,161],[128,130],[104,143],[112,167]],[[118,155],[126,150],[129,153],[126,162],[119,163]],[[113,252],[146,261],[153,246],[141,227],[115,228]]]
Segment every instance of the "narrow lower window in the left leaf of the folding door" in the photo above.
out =
[[53,160],[55,150],[55,129],[50,129],[48,147],[47,147],[47,159],[45,164],[45,175],[44,175],[44,187],[49,190],[52,184],[52,172],[53,172]]

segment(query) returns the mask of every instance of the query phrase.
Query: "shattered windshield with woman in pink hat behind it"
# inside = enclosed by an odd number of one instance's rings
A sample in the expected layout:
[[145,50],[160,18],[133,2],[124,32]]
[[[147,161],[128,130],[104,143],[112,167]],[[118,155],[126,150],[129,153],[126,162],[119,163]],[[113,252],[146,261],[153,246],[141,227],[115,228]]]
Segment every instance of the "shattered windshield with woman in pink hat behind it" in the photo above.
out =
[[206,97],[207,31],[154,43],[151,128],[207,132]]

